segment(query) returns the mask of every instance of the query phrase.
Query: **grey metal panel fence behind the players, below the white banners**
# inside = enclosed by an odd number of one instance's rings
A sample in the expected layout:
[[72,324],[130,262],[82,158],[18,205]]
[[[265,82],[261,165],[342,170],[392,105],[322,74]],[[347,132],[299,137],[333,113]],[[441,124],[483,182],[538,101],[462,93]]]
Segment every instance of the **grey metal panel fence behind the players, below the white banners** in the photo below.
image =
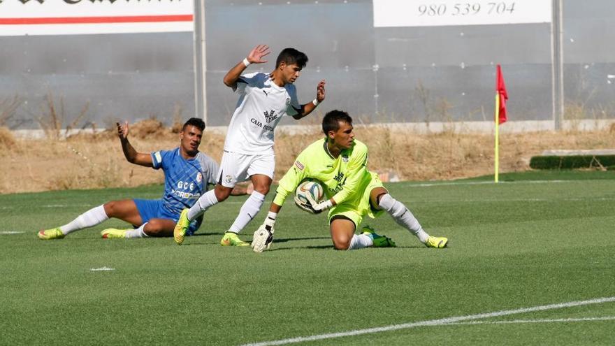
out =
[[[283,48],[302,50],[310,61],[296,82],[300,101],[326,79],[319,110],[345,109],[363,122],[489,121],[495,64],[511,122],[615,119],[615,2],[553,3],[561,15],[551,23],[375,28],[369,0],[208,0],[208,125],[229,123],[236,95],[222,77],[257,43],[270,45],[272,57],[248,71],[273,70]],[[68,117],[89,103],[89,119],[101,126],[150,116],[171,122],[174,113],[201,113],[194,53],[189,32],[0,36],[0,101],[22,100],[14,118],[30,119],[22,127],[36,127],[31,119],[48,94],[63,100]],[[563,64],[554,66],[558,57]],[[563,112],[554,102],[558,69]]]

